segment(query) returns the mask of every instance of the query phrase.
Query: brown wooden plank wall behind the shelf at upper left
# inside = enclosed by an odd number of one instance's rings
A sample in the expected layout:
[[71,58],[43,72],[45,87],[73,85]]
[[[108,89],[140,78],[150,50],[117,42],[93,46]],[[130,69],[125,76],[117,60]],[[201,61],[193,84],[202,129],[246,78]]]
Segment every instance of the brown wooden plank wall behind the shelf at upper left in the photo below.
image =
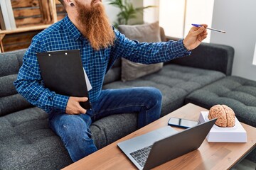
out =
[[[66,15],[65,8],[58,0],[11,0],[11,6],[16,26],[21,29],[17,32],[14,30],[13,33],[0,34],[2,52],[27,48],[33,36],[46,28],[38,30],[33,26],[48,26],[55,21],[60,21]],[[30,27],[34,29],[22,29]]]

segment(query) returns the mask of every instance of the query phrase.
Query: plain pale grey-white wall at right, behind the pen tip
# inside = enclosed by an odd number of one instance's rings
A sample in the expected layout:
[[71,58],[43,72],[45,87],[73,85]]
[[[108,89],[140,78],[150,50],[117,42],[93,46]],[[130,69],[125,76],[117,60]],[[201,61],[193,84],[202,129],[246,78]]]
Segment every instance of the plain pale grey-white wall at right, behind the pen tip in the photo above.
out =
[[233,75],[256,80],[252,64],[256,43],[256,1],[215,0],[212,27],[227,33],[211,33],[210,42],[235,48]]

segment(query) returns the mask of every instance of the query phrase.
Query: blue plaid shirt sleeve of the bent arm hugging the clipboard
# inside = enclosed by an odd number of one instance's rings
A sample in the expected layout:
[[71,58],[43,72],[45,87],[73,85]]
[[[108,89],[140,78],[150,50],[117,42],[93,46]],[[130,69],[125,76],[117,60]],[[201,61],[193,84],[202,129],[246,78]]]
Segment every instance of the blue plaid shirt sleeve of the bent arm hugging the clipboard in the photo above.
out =
[[45,51],[41,40],[37,37],[33,38],[31,46],[23,57],[23,64],[18,72],[18,78],[14,81],[14,86],[28,102],[42,108],[46,113],[65,112],[68,96],[55,94],[43,86],[36,53]]

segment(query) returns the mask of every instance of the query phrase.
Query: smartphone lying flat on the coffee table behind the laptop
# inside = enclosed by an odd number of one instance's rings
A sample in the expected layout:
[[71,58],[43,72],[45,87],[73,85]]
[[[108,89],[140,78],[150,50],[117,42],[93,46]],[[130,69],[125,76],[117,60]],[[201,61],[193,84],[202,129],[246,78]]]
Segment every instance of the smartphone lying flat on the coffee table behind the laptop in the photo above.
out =
[[170,118],[168,121],[168,125],[176,126],[178,128],[191,128],[195,125],[198,125],[198,121],[187,120],[183,118]]

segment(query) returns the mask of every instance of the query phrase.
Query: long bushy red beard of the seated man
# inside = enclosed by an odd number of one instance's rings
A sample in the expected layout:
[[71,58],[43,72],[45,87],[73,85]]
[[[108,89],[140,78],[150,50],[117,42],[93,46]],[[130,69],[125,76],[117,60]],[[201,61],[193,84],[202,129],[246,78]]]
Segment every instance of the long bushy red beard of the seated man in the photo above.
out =
[[82,35],[89,40],[95,50],[110,47],[114,44],[114,31],[101,2],[90,6],[77,2],[79,16],[77,18]]

